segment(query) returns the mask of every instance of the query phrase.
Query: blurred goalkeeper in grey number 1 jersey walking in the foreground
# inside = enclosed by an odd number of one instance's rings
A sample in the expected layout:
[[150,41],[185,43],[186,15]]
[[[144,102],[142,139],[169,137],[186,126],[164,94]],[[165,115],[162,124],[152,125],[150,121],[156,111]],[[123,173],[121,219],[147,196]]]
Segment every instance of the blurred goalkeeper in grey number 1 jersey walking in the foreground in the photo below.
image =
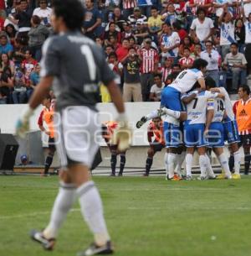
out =
[[90,180],[89,171],[99,149],[96,138],[100,134],[100,124],[95,104],[99,98],[100,81],[107,86],[119,112],[116,121],[120,125],[113,137],[118,149],[129,147],[131,132],[114,73],[110,71],[101,48],[80,33],[84,16],[80,1],[54,0],[51,19],[56,35],[44,43],[41,81],[33,92],[28,109],[18,120],[17,133],[24,136],[28,131],[29,118],[53,85],[57,98],[54,113],[56,147],[64,171],[60,175],[61,187],[49,225],[43,232],[31,232],[31,237],[45,249],[52,250],[59,227],[78,198],[81,213],[95,240],[78,255],[110,254],[113,248],[100,194]]

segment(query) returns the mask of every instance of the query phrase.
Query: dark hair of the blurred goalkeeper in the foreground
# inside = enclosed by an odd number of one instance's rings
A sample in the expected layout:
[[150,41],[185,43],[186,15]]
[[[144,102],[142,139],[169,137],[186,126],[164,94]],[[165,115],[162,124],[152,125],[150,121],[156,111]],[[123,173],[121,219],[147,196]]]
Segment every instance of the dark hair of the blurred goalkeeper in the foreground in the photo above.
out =
[[54,0],[53,8],[56,17],[61,17],[70,30],[81,29],[85,17],[83,4],[79,0]]

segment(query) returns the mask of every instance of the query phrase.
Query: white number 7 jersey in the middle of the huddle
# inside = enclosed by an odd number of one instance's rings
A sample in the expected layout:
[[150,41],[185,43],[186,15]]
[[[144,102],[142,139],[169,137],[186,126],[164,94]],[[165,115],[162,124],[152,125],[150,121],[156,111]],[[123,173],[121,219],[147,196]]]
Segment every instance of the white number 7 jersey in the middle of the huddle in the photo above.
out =
[[[187,97],[193,92],[182,95]],[[207,110],[214,109],[214,98],[218,97],[218,93],[211,91],[201,91],[197,97],[187,104],[187,121],[189,124],[206,123]]]

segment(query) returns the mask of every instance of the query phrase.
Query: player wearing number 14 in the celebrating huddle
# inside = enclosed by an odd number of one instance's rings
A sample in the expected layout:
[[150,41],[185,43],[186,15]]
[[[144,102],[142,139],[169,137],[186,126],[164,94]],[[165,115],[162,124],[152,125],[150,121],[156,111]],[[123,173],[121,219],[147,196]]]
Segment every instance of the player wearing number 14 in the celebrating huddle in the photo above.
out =
[[[215,81],[211,77],[206,78],[207,90],[216,86]],[[213,92],[215,93],[215,92]],[[221,94],[223,96],[223,94]],[[224,97],[224,96],[223,96]],[[218,161],[222,166],[225,179],[231,179],[231,172],[229,170],[228,158],[223,153],[224,148],[224,128],[223,118],[225,116],[225,104],[223,98],[214,99],[214,114],[213,120],[209,127],[208,144],[209,148],[217,155]],[[210,170],[213,172],[213,170]]]

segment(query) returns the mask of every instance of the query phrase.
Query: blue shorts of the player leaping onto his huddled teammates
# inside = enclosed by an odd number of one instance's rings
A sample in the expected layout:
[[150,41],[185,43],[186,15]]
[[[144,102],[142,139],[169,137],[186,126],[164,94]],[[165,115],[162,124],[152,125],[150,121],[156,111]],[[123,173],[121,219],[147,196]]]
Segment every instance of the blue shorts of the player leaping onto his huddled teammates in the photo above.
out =
[[175,111],[182,111],[181,92],[166,86],[161,92],[161,106]]

